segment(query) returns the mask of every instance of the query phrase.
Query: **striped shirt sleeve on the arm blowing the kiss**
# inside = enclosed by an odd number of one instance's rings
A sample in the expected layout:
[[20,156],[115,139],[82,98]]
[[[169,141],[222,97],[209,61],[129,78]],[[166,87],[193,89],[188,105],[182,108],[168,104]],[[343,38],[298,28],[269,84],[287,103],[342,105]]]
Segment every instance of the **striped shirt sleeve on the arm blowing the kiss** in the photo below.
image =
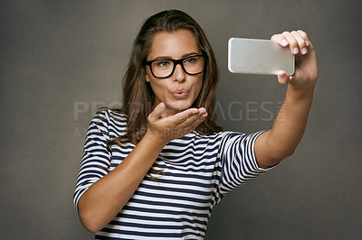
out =
[[109,172],[111,159],[107,149],[107,141],[110,139],[109,121],[107,111],[100,112],[90,121],[73,195],[77,210],[81,195]]

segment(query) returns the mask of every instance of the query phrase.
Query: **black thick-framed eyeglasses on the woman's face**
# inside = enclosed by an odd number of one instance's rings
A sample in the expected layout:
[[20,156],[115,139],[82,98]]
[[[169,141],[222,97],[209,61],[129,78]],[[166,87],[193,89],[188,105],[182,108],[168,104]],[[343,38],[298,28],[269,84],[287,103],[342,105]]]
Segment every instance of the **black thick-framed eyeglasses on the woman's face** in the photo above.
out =
[[151,69],[151,73],[155,78],[168,78],[176,69],[177,64],[180,64],[182,69],[188,75],[197,75],[205,69],[205,55],[192,55],[179,60],[157,59],[145,60],[145,64]]

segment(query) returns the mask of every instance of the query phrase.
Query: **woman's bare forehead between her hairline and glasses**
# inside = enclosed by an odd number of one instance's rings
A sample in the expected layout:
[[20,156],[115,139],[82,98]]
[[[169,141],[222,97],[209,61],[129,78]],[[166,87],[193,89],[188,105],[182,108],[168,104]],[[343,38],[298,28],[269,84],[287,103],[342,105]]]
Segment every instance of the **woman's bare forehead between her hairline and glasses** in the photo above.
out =
[[148,60],[158,57],[180,59],[192,52],[200,53],[194,33],[191,31],[157,32],[152,37]]

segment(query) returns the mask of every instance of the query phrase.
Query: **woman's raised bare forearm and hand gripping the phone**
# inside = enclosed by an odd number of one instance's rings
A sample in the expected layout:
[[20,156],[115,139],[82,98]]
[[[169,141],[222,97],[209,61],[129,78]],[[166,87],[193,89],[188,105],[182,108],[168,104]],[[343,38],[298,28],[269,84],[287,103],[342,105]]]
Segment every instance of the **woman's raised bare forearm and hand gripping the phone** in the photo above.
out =
[[262,168],[281,162],[295,151],[307,125],[319,78],[316,52],[306,32],[282,32],[273,35],[271,40],[291,49],[296,56],[296,69],[292,76],[285,71],[278,72],[279,82],[289,86],[271,131],[260,135],[255,143],[256,159]]

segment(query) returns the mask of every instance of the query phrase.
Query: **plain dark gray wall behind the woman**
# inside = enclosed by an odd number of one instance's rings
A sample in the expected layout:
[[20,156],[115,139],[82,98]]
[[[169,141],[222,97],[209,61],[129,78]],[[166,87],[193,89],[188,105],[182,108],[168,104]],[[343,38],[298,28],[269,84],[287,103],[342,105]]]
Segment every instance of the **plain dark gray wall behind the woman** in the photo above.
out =
[[72,206],[85,129],[119,104],[139,26],[178,8],[207,32],[221,70],[217,121],[271,128],[285,87],[227,71],[230,37],[309,32],[319,82],[293,156],[226,196],[206,239],[361,239],[361,1],[0,1],[2,239],[91,239]]

